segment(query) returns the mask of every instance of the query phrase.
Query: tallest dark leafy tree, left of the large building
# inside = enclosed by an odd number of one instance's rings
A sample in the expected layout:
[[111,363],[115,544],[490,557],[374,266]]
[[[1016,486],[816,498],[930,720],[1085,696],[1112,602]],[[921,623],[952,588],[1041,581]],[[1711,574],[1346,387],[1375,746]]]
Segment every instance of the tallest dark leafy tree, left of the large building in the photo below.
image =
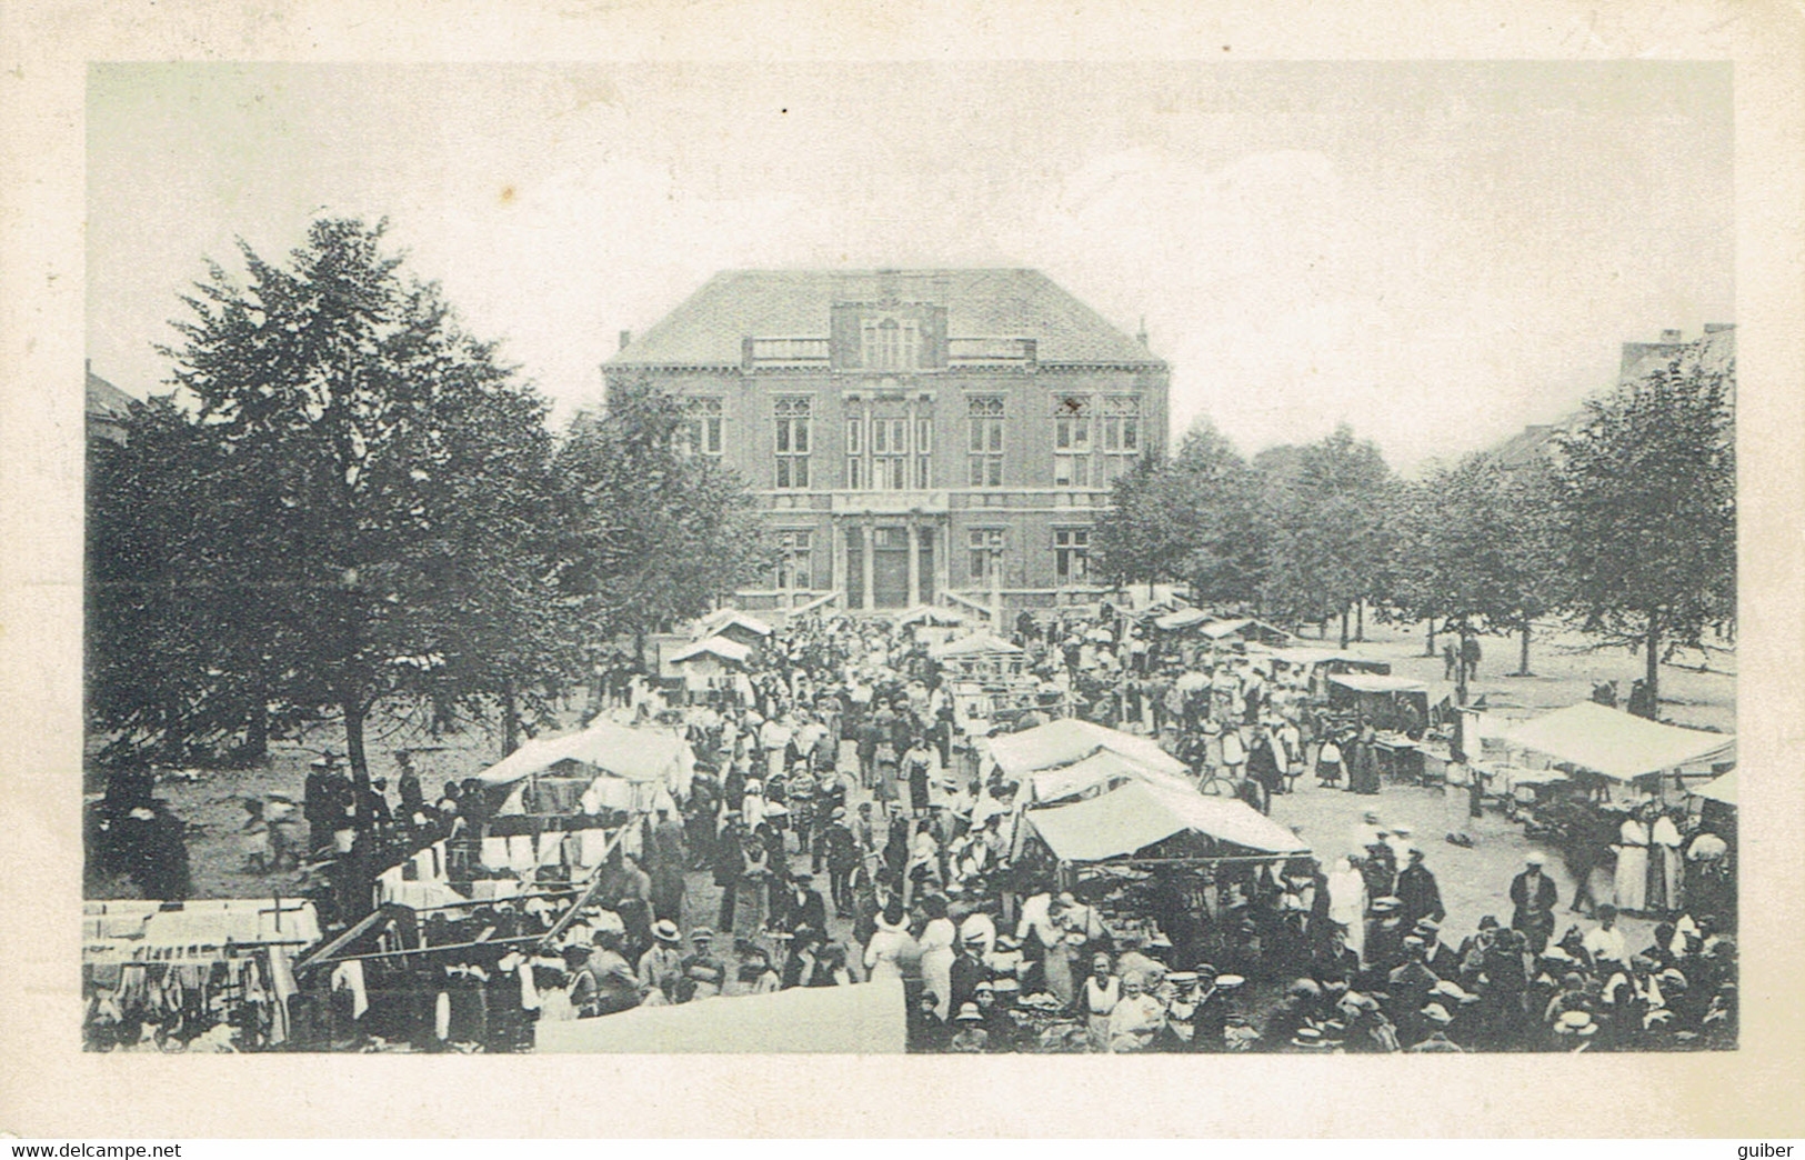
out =
[[318,220],[287,266],[240,244],[247,284],[211,266],[166,351],[206,448],[191,578],[264,696],[343,719],[359,782],[377,703],[482,708],[560,665],[545,403],[383,231]]

